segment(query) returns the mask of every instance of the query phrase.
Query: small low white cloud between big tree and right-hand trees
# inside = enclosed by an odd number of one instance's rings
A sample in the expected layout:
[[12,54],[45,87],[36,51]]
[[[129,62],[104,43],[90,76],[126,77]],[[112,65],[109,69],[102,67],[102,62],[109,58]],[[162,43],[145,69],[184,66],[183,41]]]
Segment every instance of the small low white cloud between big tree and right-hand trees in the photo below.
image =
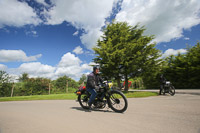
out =
[[161,58],[166,58],[166,57],[169,57],[170,55],[178,55],[178,53],[185,54],[186,52],[187,52],[187,50],[185,50],[185,49],[177,49],[177,50],[168,49],[164,52],[164,54],[162,55]]

